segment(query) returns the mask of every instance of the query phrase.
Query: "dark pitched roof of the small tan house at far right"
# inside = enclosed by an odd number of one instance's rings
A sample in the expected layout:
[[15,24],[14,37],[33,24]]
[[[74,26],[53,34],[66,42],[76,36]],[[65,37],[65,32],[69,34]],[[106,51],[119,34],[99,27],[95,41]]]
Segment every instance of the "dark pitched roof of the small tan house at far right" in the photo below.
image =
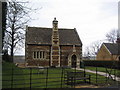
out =
[[103,43],[112,55],[120,55],[120,43]]

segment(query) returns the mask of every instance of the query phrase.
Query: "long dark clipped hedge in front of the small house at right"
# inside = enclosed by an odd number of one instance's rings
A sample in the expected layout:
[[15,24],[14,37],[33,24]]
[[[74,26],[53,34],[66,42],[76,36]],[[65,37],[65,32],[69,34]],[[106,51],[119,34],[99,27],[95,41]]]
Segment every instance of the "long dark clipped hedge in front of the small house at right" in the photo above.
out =
[[83,66],[107,67],[107,68],[117,68],[117,69],[120,69],[120,61],[83,60],[81,62],[81,65],[83,65]]

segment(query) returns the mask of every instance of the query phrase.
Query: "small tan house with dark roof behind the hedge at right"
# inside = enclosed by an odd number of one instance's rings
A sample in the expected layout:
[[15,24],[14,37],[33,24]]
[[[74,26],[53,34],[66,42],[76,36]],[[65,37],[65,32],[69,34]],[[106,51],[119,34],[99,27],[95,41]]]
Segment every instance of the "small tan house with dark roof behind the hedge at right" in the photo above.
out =
[[103,43],[96,60],[120,60],[120,43]]

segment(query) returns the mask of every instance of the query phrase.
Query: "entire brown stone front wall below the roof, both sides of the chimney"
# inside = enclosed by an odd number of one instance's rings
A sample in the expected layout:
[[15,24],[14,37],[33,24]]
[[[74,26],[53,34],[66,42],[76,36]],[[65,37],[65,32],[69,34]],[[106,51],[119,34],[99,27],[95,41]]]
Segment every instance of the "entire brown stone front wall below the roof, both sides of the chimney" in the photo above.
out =
[[[45,51],[45,59],[39,60],[33,58],[34,51]],[[75,46],[60,46],[60,66],[71,66],[72,55],[77,56],[77,65],[80,65],[80,60],[82,59],[82,47]],[[27,45],[26,46],[26,62],[28,66],[50,66],[51,65],[51,46],[37,46],[37,45]],[[54,61],[57,64],[57,62]]]

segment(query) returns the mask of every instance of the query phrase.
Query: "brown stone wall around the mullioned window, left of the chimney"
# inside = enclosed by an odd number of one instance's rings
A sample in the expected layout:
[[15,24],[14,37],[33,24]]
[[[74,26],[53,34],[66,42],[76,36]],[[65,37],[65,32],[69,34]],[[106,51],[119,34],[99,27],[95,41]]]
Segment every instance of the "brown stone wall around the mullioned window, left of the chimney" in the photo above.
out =
[[[50,66],[50,46],[27,45],[26,62],[28,66]],[[45,59],[34,59],[34,51],[45,51]]]

